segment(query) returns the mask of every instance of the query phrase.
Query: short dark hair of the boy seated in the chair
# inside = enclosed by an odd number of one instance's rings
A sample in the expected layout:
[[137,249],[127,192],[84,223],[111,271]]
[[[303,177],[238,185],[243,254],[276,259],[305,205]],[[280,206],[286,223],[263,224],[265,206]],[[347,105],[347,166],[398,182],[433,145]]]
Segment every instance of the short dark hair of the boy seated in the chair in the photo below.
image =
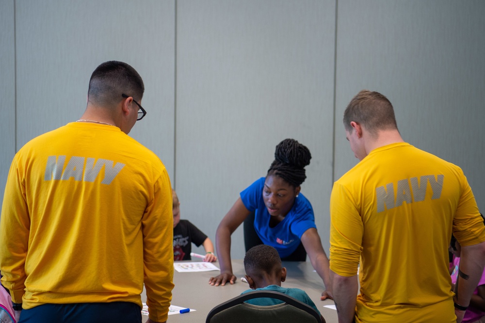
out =
[[244,270],[248,276],[261,277],[263,273],[273,274],[281,270],[281,258],[274,247],[259,244],[246,252]]

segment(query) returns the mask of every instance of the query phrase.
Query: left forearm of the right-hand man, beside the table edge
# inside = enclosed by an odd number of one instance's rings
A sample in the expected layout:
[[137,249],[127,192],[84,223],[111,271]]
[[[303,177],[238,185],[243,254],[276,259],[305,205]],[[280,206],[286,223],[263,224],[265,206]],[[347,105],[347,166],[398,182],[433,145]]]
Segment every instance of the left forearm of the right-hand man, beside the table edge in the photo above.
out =
[[344,277],[330,270],[330,283],[339,323],[354,322],[358,290],[357,275]]

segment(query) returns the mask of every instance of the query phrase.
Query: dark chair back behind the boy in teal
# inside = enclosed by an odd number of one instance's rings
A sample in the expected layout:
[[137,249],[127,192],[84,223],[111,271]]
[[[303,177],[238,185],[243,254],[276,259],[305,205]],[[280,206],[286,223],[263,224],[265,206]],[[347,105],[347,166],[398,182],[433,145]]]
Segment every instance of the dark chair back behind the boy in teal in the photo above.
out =
[[[244,303],[254,298],[275,298],[285,303],[258,306]],[[318,312],[309,305],[277,291],[250,291],[234,297],[214,308],[207,315],[206,323],[325,323]]]

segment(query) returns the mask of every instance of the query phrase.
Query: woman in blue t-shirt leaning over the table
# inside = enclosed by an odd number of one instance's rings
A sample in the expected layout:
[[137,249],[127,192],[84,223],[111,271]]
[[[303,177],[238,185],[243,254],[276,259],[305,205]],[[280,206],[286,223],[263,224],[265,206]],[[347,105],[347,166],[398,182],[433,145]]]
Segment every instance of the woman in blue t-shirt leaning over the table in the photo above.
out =
[[285,139],[276,146],[275,161],[266,177],[259,178],[241,192],[241,197],[217,228],[216,248],[221,274],[211,277],[210,285],[234,284],[231,234],[254,214],[254,229],[244,226],[246,250],[257,244],[268,244],[275,247],[283,261],[305,261],[308,254],[327,288],[322,300],[332,298],[328,258],[315,226],[311,204],[300,193],[300,185],[306,178],[305,166],[310,159],[308,148],[294,139]]

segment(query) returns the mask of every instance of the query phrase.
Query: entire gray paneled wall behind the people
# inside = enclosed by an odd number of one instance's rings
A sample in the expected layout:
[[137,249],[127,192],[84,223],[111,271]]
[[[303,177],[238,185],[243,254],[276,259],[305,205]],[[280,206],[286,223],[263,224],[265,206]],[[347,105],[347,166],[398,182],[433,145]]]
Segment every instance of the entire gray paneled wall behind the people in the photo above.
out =
[[484,15],[481,0],[0,1],[0,196],[15,152],[77,120],[92,71],[121,60],[146,84],[130,135],[212,241],[295,138],[313,156],[302,192],[328,252],[332,183],[356,164],[342,113],[363,88],[388,96],[406,141],[464,169],[484,210]]

